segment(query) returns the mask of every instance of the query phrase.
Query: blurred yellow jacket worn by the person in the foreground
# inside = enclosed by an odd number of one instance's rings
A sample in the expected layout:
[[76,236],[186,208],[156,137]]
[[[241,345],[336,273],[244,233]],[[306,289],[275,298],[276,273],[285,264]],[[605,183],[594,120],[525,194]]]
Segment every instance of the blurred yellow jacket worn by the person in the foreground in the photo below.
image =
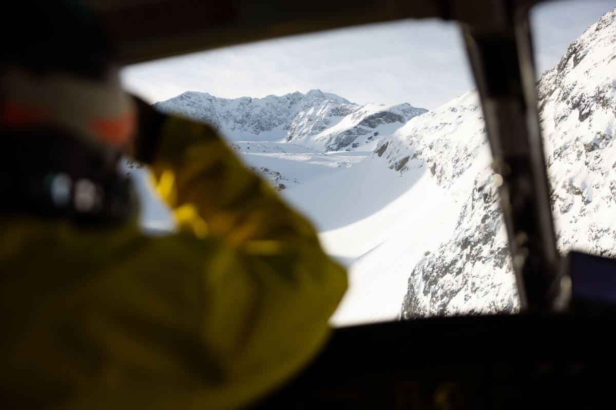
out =
[[346,273],[310,224],[211,128],[152,140],[177,234],[0,217],[0,408],[237,408],[325,342]]

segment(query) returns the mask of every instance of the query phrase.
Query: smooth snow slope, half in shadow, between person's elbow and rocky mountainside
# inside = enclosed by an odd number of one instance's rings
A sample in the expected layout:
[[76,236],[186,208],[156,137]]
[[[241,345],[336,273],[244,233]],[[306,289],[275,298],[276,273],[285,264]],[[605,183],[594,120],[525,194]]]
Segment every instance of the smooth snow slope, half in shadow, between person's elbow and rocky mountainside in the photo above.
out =
[[325,249],[349,267],[334,325],[397,317],[409,267],[455,227],[455,203],[429,173],[400,175],[379,165],[368,157],[283,192],[315,222]]

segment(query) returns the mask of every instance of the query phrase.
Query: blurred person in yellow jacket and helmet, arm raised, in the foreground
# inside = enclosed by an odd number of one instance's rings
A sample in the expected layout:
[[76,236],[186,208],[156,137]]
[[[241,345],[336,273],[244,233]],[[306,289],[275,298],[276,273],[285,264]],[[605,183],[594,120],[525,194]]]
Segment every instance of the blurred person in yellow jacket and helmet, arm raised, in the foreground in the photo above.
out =
[[[312,226],[210,127],[121,92],[87,12],[4,15],[0,408],[235,408],[298,371],[346,289]],[[125,153],[176,234],[139,232]]]

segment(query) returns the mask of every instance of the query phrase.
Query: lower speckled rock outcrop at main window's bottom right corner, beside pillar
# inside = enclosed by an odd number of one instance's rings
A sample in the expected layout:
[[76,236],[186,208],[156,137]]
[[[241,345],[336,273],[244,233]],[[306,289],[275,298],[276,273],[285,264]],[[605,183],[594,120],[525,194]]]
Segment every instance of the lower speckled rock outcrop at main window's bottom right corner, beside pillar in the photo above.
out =
[[517,291],[490,168],[474,179],[454,236],[422,258],[402,302],[405,319],[514,312]]

